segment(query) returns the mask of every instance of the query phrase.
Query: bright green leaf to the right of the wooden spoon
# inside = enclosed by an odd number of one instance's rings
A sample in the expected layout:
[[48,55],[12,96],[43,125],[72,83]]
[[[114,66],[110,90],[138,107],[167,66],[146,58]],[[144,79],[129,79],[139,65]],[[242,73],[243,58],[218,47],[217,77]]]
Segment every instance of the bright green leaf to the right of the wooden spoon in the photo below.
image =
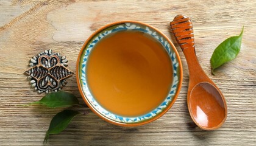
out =
[[223,41],[219,44],[218,47],[213,52],[211,57],[211,66],[212,66],[212,74],[214,74],[214,69],[218,68],[222,64],[233,60],[236,55],[240,51],[241,43],[242,43],[242,36],[244,32],[244,27],[238,36],[231,36],[227,38],[227,40]]

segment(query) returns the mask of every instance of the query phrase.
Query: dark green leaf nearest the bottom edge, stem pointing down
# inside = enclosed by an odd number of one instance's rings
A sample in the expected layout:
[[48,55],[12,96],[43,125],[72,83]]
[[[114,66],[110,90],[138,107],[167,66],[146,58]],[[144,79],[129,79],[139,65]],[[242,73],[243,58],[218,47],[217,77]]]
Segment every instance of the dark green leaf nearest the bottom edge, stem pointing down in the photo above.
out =
[[48,131],[46,131],[46,136],[44,137],[44,144],[47,143],[49,134],[58,134],[61,131],[65,130],[65,128],[68,126],[70,121],[79,114],[78,111],[73,111],[66,109],[64,111],[61,111],[60,113],[56,114],[49,125]]

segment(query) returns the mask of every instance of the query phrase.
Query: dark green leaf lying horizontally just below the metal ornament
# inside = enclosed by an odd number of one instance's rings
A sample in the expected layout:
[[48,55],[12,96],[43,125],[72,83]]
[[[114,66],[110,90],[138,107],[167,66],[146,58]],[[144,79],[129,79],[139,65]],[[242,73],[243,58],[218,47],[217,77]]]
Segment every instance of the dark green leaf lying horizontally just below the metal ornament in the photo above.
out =
[[79,101],[76,96],[69,92],[52,92],[44,96],[41,100],[37,102],[30,103],[33,104],[41,104],[48,106],[49,108],[57,108],[57,107],[68,107],[72,105],[79,105]]

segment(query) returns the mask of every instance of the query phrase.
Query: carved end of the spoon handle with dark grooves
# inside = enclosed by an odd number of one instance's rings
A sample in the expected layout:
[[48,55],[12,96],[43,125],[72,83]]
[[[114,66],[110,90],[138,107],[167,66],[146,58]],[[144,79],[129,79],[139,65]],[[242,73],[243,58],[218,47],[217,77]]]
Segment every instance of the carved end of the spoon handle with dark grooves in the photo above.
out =
[[182,51],[184,49],[194,50],[194,31],[190,18],[177,15],[170,26]]

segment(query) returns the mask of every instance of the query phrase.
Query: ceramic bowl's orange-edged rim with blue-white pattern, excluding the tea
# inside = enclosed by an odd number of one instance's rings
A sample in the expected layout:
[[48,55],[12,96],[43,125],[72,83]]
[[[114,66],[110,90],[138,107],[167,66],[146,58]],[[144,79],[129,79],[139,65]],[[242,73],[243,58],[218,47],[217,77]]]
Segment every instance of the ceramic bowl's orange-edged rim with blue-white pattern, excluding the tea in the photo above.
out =
[[[168,96],[166,96],[165,100],[163,100],[163,102],[158,105],[157,108],[153,109],[147,114],[138,117],[123,117],[107,111],[107,109],[104,109],[94,99],[87,84],[87,59],[90,56],[91,50],[93,50],[94,46],[98,43],[98,41],[105,36],[109,35],[110,33],[124,30],[148,33],[150,36],[152,36],[152,38],[155,38],[155,40],[157,40],[163,45],[163,47],[165,47],[166,54],[169,55],[172,61],[173,78]],[[171,41],[159,30],[155,29],[152,26],[149,26],[148,24],[139,23],[136,21],[119,21],[116,23],[108,24],[107,26],[104,26],[94,32],[88,38],[88,40],[85,41],[84,46],[82,46],[80,54],[77,58],[76,67],[76,77],[79,91],[85,103],[87,103],[88,107],[91,108],[91,110],[95,114],[97,114],[99,117],[106,120],[107,122],[125,127],[144,125],[163,116],[163,114],[165,114],[166,111],[168,111],[168,109],[171,108],[171,106],[176,101],[182,85],[182,64],[176,47],[174,47]]]

